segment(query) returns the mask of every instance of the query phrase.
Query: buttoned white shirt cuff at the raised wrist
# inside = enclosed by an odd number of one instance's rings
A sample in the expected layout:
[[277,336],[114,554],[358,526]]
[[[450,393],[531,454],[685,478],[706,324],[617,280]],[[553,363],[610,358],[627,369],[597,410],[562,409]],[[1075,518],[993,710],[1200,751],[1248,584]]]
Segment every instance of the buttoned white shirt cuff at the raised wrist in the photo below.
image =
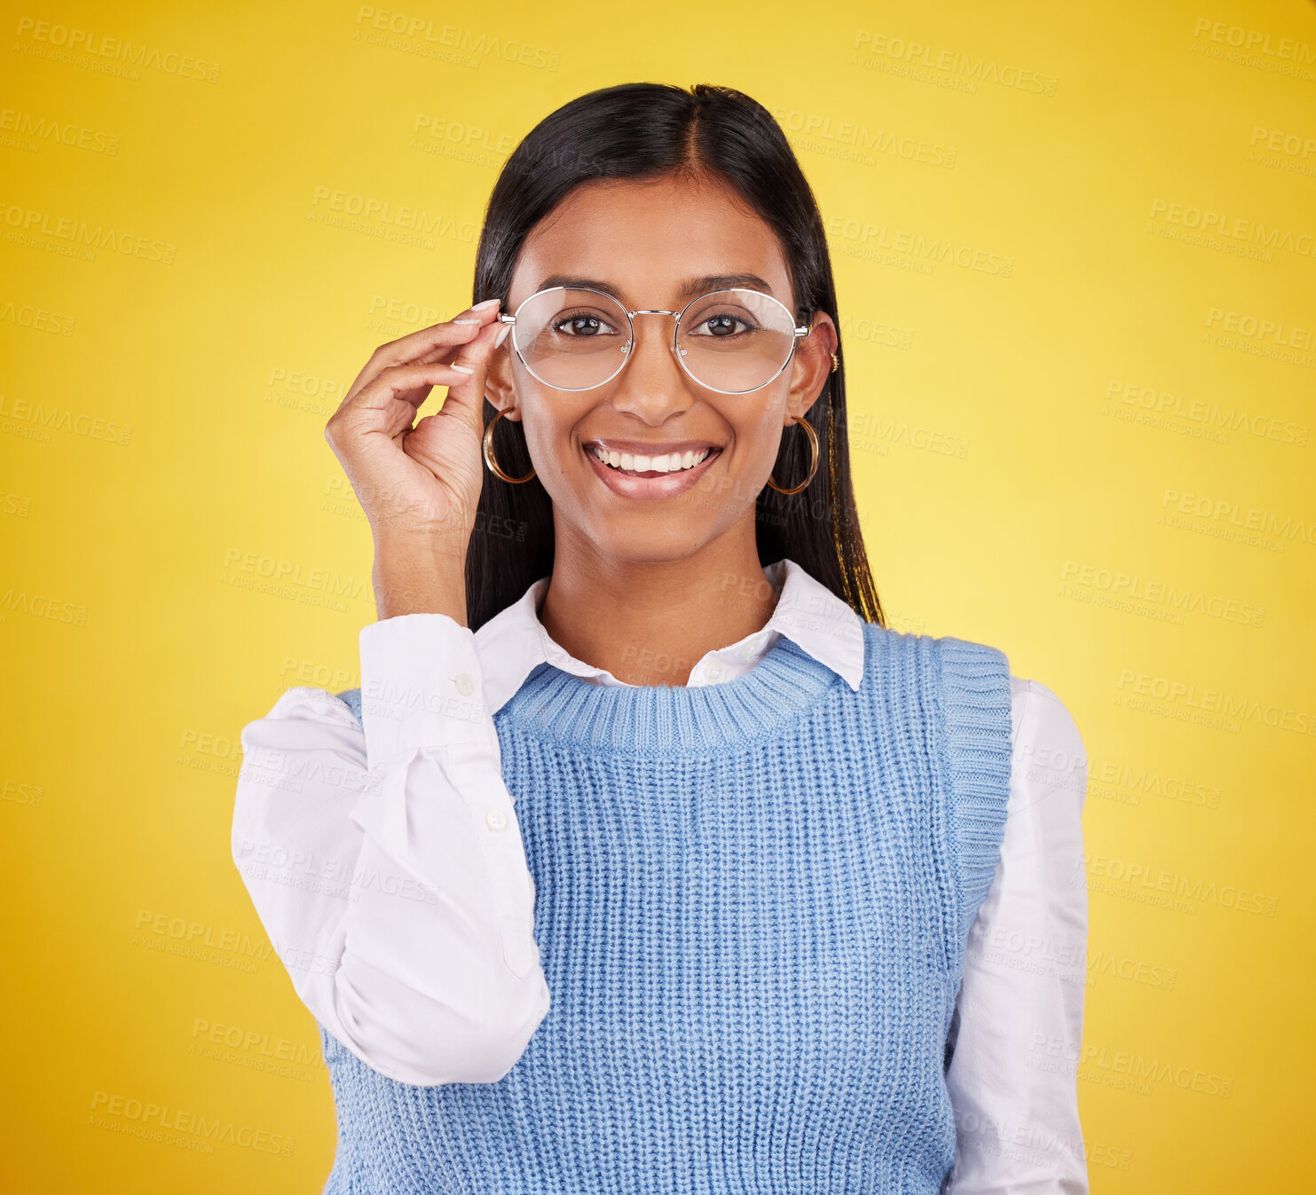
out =
[[447,615],[397,615],[361,630],[361,724],[371,767],[421,748],[488,746],[475,633]]

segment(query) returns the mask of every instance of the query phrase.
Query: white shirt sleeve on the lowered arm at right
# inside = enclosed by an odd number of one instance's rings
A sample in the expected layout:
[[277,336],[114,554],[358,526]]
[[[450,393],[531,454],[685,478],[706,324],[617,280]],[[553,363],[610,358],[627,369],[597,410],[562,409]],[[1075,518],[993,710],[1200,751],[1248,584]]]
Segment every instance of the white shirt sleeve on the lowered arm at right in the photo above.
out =
[[946,1083],[950,1195],[1087,1195],[1073,1057],[1083,1036],[1087,755],[1059,698],[1011,678],[1013,759],[996,874],[969,936]]

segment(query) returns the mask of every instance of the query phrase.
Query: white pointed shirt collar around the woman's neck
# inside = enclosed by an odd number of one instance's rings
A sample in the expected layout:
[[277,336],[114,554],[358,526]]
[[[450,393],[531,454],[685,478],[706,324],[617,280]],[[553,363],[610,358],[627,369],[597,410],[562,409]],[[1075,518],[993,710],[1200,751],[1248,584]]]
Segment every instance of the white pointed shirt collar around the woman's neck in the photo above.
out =
[[[767,625],[708,654],[732,657],[741,650],[753,654],[769,640],[775,642],[778,634],[784,634],[820,663],[840,673],[850,688],[858,690],[863,678],[863,620],[795,561],[776,561],[763,570],[763,575],[782,591]],[[541,576],[517,601],[475,632],[484,673],[484,699],[491,713],[501,709],[525,678],[545,662],[576,676],[605,676],[616,682],[605,669],[576,659],[549,637],[538,613],[549,580]]]

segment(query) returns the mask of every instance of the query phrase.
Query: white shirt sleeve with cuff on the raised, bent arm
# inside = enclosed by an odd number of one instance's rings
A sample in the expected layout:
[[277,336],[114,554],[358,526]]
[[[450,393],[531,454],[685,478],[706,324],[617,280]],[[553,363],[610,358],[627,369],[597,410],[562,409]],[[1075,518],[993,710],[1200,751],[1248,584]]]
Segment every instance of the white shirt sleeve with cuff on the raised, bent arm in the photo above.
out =
[[549,1011],[474,634],[361,632],[358,721],[291,688],[242,730],[233,859],[297,996],[404,1083],[492,1083]]

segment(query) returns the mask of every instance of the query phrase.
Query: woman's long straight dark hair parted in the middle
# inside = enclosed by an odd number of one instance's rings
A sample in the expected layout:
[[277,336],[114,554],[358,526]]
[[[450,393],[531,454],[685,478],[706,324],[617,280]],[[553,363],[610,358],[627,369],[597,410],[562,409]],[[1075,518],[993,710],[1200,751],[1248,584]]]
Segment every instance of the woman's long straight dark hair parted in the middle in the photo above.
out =
[[[508,158],[490,195],[475,255],[472,301],[507,304],[526,236],[578,184],[661,175],[720,178],[779,237],[796,315],[825,311],[840,328],[822,218],[804,172],[771,113],[729,87],[684,91],[625,83],[591,91],[537,124]],[[504,308],[505,309],[505,308]],[[865,621],[886,626],[869,572],[850,480],[845,419],[845,355],[805,415],[819,436],[819,470],[799,494],[765,486],[757,499],[759,559],[790,557]],[[497,413],[484,403],[484,426]],[[805,476],[811,451],[803,428],[786,429],[772,476],[790,487]],[[509,421],[495,429],[495,458],[524,476],[532,462]],[[478,630],[553,571],[553,503],[538,478],[521,484],[486,471],[466,561],[467,621]]]

